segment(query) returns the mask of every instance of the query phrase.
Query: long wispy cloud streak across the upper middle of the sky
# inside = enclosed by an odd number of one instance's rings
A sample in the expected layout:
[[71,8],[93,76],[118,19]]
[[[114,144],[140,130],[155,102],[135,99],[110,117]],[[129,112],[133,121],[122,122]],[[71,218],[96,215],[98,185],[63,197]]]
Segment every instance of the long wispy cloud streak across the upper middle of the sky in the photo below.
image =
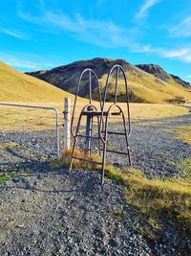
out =
[[129,47],[133,43],[134,35],[137,34],[136,29],[121,28],[111,19],[87,19],[79,13],[70,17],[65,13],[43,10],[41,15],[33,16],[19,10],[18,14],[28,22],[51,28],[53,32],[65,31],[79,41],[107,48]]

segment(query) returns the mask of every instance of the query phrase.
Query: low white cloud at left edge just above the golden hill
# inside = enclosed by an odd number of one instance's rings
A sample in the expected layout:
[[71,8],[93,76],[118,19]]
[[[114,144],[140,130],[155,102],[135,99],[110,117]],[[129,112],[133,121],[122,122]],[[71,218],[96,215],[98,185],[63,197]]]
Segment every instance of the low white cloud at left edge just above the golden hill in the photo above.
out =
[[[50,57],[51,59],[52,57]],[[1,53],[0,60],[12,67],[22,70],[37,70],[42,68],[52,68],[59,65],[57,61],[46,60],[45,58],[31,53]]]

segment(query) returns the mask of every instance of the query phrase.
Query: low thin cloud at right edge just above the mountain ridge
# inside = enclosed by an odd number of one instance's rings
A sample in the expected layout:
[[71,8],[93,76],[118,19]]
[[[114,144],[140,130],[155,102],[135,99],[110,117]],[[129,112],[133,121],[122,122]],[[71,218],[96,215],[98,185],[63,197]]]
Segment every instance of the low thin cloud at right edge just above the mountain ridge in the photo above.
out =
[[136,53],[153,53],[162,58],[179,59],[183,62],[191,62],[191,48],[179,48],[179,49],[164,49],[153,48],[149,45],[134,48],[131,50]]

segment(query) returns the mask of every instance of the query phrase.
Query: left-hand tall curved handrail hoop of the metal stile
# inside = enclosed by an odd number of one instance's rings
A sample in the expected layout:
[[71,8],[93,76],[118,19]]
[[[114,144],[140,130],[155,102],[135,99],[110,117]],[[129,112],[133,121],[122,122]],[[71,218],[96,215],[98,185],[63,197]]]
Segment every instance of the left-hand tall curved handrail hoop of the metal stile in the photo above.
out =
[[[75,110],[75,106],[76,106],[76,101],[77,101],[77,97],[78,97],[78,94],[79,94],[79,87],[80,87],[80,84],[81,84],[81,81],[82,81],[82,78],[84,77],[85,73],[89,72],[89,105],[92,105],[92,75],[93,77],[95,78],[96,80],[96,83],[97,83],[97,87],[98,87],[98,97],[99,97],[99,104],[100,104],[100,109],[101,109],[101,106],[102,106],[102,102],[101,102],[101,90],[100,90],[100,85],[99,85],[99,81],[98,81],[98,78],[96,76],[96,73],[94,70],[92,70],[91,68],[86,68],[82,71],[80,77],[79,77],[79,80],[77,82],[77,87],[76,87],[76,92],[75,92],[75,98],[74,98],[74,107],[73,107],[73,115],[72,115],[72,120],[71,120],[71,134],[73,135],[74,137],[74,133],[73,133],[73,126],[74,126],[74,110]],[[85,107],[88,106],[88,105],[85,105]],[[83,107],[84,109],[84,107]]]

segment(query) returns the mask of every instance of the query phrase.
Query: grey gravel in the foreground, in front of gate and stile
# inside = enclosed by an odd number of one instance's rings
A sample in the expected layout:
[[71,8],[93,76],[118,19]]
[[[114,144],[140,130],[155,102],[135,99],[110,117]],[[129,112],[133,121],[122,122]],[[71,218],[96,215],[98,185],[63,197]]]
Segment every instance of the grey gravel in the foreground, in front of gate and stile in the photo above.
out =
[[84,171],[6,181],[0,187],[1,253],[150,255],[122,188],[107,180],[101,190],[99,182],[95,173]]

